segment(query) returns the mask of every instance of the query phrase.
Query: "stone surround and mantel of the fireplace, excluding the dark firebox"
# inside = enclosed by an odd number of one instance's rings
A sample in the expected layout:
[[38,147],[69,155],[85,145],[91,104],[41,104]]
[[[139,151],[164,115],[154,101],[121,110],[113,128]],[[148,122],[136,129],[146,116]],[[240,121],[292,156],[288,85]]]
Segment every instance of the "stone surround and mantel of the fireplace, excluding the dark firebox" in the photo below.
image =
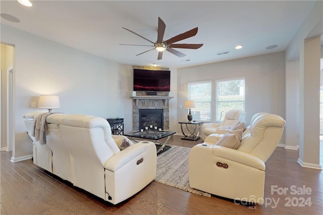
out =
[[164,130],[170,128],[169,92],[157,92],[156,96],[147,96],[146,92],[137,91],[136,96],[131,96],[132,101],[132,130],[139,130],[139,109],[163,109]]

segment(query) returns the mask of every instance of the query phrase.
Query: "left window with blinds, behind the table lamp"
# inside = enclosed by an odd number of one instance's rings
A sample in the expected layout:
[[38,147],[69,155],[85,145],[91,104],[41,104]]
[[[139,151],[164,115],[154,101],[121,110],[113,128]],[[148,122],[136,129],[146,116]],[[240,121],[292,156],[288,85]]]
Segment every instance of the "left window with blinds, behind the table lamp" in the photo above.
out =
[[195,101],[191,109],[193,120],[211,120],[212,82],[188,83],[188,100]]

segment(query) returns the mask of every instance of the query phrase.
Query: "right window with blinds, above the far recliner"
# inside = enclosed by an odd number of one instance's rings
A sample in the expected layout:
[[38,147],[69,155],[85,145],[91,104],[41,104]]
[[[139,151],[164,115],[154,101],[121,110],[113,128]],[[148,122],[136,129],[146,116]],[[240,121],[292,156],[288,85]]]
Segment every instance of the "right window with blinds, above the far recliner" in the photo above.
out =
[[230,109],[244,111],[244,86],[244,79],[217,81],[216,121],[222,121],[225,113]]

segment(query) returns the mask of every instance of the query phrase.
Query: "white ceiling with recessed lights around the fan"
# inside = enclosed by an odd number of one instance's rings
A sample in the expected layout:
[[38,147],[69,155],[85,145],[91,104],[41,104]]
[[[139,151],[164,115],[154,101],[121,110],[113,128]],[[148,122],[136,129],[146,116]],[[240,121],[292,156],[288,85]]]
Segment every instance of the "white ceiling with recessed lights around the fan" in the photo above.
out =
[[[315,1],[1,1],[1,13],[17,17],[9,25],[76,49],[131,65],[181,68],[284,51],[313,9]],[[198,27],[196,36],[178,43],[204,43],[199,49],[168,51],[157,60],[156,50],[135,56],[157,39],[160,17],[164,40]],[[5,42],[5,41],[4,41]],[[243,48],[235,49],[236,45]],[[267,46],[278,45],[274,49]],[[217,53],[229,52],[217,55]]]

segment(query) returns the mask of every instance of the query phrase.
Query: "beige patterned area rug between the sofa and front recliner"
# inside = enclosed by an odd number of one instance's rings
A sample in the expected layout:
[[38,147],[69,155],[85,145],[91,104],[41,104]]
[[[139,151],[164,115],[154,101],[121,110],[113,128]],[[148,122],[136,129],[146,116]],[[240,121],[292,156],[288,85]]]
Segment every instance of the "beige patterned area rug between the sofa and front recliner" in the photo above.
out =
[[172,146],[157,156],[157,172],[154,181],[198,195],[211,197],[209,193],[193,189],[188,182],[188,154],[191,148]]

